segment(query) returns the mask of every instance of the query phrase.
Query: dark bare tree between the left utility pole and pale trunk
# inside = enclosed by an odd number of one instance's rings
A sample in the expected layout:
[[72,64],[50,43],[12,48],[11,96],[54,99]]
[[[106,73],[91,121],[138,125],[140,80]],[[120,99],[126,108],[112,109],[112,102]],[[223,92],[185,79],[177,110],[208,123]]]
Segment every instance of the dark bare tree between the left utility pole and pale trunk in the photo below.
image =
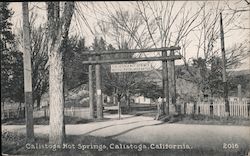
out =
[[[32,89],[33,89],[33,106],[36,102],[37,108],[40,107],[42,95],[49,88],[49,71],[48,71],[48,53],[47,38],[44,25],[36,26],[37,14],[31,13],[30,38],[31,38],[31,62],[32,62]],[[23,31],[19,30],[16,35],[16,41],[22,47]]]

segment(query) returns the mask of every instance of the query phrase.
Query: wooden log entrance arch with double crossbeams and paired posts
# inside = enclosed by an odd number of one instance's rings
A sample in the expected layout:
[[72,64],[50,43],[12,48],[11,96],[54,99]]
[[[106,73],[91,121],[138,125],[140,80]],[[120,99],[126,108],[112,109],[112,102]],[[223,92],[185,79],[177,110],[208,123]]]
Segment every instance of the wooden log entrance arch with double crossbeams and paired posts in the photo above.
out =
[[[169,76],[171,73],[171,88],[170,101],[173,105],[176,104],[176,78],[175,78],[175,60],[181,59],[181,55],[175,55],[174,51],[180,50],[180,47],[162,47],[152,49],[129,49],[129,50],[112,50],[112,51],[87,51],[83,54],[88,55],[88,61],[83,61],[83,64],[89,65],[89,104],[90,104],[90,118],[94,118],[94,89],[93,89],[93,73],[92,68],[95,65],[96,74],[96,106],[97,118],[103,118],[103,104],[102,104],[102,90],[101,90],[101,72],[100,64],[105,63],[124,63],[124,62],[140,62],[140,61],[162,61],[162,83],[163,83],[163,100],[158,115],[169,115]],[[170,51],[168,55],[168,51]],[[101,55],[121,54],[121,53],[145,53],[145,52],[162,52],[160,57],[145,57],[145,58],[121,58],[111,60],[101,60]],[[168,65],[170,71],[168,71]]]

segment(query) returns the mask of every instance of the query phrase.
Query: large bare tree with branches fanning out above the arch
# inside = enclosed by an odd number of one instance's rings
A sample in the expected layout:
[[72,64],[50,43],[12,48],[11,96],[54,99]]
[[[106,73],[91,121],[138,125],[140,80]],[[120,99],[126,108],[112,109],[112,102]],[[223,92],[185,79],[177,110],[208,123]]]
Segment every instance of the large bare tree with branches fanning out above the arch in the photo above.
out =
[[[119,41],[118,43],[127,41],[129,47],[132,48],[157,48],[167,46],[178,46],[181,41],[187,39],[192,31],[194,31],[200,24],[197,21],[199,15],[202,12],[204,6],[198,7],[197,11],[192,11],[192,8],[187,8],[187,2],[181,5],[176,5],[177,2],[131,2],[133,11],[126,11],[121,4],[116,4],[116,10],[107,10],[107,29],[103,20],[101,20],[101,29],[108,30],[104,34],[106,37],[112,37],[112,41]],[[111,4],[112,5],[112,4]],[[105,28],[105,29],[103,29]],[[155,56],[162,55],[157,52]],[[137,54],[134,57],[150,57],[152,55]],[[170,67],[173,68],[172,66]],[[162,73],[157,69],[163,69],[162,65],[153,66],[153,72],[155,72],[160,78]],[[165,68],[164,68],[165,69]],[[169,80],[164,81],[164,86],[169,86],[169,93],[173,95],[170,102],[175,103],[175,81],[174,77],[169,70]],[[167,102],[168,103],[168,102]],[[162,107],[164,108],[164,107]],[[167,108],[167,107],[166,107]],[[162,112],[165,112],[164,110]]]

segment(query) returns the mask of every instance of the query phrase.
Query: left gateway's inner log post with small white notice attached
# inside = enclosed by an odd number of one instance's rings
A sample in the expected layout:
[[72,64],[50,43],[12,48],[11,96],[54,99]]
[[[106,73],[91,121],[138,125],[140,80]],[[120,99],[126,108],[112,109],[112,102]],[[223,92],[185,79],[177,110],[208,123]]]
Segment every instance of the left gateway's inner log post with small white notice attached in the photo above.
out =
[[[100,55],[96,56],[96,60],[100,60]],[[97,106],[97,118],[103,118],[103,106],[102,106],[102,90],[101,90],[101,65],[95,65],[95,75],[96,75],[96,106]]]

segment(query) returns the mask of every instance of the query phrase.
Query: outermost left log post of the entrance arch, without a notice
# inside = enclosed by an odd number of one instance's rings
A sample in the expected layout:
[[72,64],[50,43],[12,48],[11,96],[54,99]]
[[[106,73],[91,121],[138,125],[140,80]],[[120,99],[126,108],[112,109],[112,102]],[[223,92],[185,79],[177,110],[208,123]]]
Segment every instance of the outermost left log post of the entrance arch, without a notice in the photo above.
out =
[[[89,61],[92,60],[92,57],[89,57]],[[95,118],[94,111],[94,89],[93,89],[93,67],[89,65],[89,116],[90,119]]]

